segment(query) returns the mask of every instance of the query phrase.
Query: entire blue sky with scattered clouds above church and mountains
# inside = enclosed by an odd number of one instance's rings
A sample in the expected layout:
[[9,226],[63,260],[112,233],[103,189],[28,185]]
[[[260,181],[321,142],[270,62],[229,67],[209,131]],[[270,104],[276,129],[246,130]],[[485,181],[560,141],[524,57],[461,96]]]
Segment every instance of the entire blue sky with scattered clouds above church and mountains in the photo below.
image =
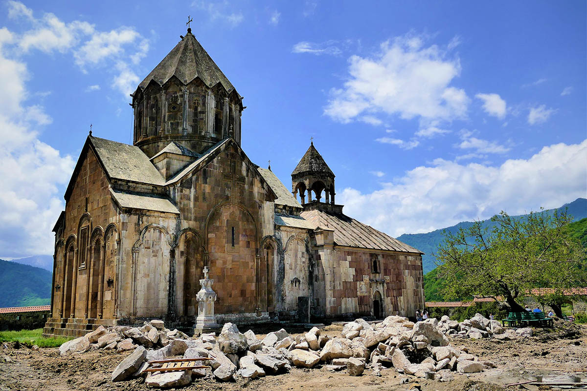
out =
[[242,147],[286,186],[314,138],[345,212],[398,236],[587,193],[586,3],[0,3],[0,258],[52,253],[90,123],[185,33],[245,97]]

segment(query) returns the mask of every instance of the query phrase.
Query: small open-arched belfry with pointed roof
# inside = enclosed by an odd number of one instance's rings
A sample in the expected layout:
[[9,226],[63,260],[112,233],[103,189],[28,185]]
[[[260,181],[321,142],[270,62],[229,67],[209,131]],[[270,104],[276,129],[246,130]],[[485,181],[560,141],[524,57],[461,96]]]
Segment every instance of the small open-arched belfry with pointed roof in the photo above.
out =
[[[334,178],[334,173],[318,153],[312,140],[310,148],[308,148],[302,160],[299,161],[298,166],[292,172],[292,193],[302,205],[309,203],[334,205],[334,196],[336,194]],[[322,192],[324,195],[322,195]]]

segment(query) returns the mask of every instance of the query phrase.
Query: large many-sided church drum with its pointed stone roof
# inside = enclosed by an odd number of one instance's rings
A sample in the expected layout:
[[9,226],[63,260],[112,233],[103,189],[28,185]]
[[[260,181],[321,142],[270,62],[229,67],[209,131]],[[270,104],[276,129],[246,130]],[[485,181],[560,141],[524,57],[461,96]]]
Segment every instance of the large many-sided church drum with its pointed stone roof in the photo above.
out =
[[131,94],[133,144],[152,157],[171,142],[201,154],[222,139],[241,143],[242,97],[187,29]]

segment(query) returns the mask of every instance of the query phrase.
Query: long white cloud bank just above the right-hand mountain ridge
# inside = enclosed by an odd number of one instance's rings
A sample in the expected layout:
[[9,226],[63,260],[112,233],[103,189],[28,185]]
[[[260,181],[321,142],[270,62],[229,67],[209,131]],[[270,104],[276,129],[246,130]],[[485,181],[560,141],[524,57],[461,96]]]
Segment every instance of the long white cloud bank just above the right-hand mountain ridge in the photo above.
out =
[[505,210],[522,214],[585,197],[587,140],[546,146],[529,159],[500,166],[437,159],[410,170],[380,190],[345,188],[345,214],[392,236],[429,232]]

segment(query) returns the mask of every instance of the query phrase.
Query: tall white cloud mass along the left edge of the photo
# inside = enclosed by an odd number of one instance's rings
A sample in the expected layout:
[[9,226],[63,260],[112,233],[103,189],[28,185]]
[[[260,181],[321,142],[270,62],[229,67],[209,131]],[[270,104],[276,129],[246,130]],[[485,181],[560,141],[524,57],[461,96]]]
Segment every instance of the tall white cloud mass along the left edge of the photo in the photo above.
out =
[[51,118],[27,104],[26,63],[6,49],[14,44],[15,35],[0,29],[0,258],[53,253],[51,228],[63,210],[57,185],[68,181],[74,164],[38,139]]

